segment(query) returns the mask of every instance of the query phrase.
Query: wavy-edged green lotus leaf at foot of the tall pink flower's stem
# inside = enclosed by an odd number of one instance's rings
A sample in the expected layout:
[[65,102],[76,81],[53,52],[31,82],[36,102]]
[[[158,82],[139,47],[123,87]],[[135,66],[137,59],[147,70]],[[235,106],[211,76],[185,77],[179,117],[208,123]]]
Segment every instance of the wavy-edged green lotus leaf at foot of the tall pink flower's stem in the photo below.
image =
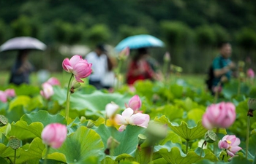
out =
[[65,117],[61,114],[49,114],[47,111],[40,110],[39,112],[32,112],[31,114],[24,114],[20,120],[26,121],[29,124],[33,122],[41,122],[44,127],[50,123],[67,124]]

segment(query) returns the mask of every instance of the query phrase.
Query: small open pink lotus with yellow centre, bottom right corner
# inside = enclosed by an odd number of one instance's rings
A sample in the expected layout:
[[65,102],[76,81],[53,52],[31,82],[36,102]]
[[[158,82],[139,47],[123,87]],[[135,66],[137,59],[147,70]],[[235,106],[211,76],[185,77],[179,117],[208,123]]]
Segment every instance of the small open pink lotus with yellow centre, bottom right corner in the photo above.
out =
[[240,139],[236,138],[235,135],[226,135],[219,141],[219,149],[226,149],[227,154],[233,157],[236,152],[242,149],[238,147],[239,144]]

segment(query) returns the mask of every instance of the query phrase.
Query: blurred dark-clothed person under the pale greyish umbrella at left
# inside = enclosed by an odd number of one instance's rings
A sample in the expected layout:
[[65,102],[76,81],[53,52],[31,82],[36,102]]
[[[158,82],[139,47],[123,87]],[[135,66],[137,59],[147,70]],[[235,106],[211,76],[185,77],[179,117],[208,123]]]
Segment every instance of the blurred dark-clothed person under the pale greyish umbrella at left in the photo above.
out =
[[29,62],[29,50],[19,50],[15,64],[12,66],[10,84],[29,84],[29,75],[33,70],[34,67]]

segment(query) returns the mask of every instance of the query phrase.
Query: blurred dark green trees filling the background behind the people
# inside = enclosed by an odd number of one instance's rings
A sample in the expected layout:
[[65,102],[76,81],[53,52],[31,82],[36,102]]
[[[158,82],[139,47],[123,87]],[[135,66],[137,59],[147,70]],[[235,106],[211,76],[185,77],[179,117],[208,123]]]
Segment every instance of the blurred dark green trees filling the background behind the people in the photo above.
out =
[[[151,49],[159,63],[166,51],[186,73],[205,73],[217,44],[233,44],[233,60],[256,60],[256,1],[242,0],[9,0],[0,1],[0,44],[34,36],[48,45],[31,55],[37,69],[61,71],[62,44],[98,42],[113,47],[127,36],[151,34],[164,48]],[[9,70],[15,52],[1,52],[0,70]],[[70,54],[75,55],[75,54]],[[3,62],[4,61],[4,62]],[[254,67],[255,68],[255,67]]]

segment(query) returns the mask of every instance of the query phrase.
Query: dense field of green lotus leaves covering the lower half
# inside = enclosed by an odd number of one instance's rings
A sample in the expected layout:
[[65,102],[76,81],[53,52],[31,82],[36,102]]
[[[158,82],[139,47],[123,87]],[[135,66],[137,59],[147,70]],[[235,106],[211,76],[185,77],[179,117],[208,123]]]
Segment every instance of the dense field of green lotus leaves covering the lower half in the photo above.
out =
[[[15,96],[0,102],[1,164],[44,163],[46,158],[50,164],[256,163],[255,117],[250,117],[246,147],[248,101],[256,98],[252,83],[234,79],[217,98],[204,87],[178,77],[169,82],[141,81],[133,88],[123,85],[111,92],[82,85],[70,95],[67,119],[67,82],[53,85],[53,94],[48,98],[40,94],[41,86],[4,88],[14,89]],[[127,123],[120,131],[120,124],[107,117],[106,106],[112,102],[118,106],[116,114],[122,114],[135,95],[141,101],[138,114],[150,117],[148,126]],[[236,120],[229,128],[209,132],[202,117],[207,106],[219,102],[236,106]],[[67,138],[61,147],[47,151],[42,130],[52,123],[66,125]],[[205,142],[206,134],[211,138],[211,133],[217,133],[217,141]],[[227,153],[230,148],[218,147],[225,135],[236,135],[241,141],[241,149],[232,158]]]

